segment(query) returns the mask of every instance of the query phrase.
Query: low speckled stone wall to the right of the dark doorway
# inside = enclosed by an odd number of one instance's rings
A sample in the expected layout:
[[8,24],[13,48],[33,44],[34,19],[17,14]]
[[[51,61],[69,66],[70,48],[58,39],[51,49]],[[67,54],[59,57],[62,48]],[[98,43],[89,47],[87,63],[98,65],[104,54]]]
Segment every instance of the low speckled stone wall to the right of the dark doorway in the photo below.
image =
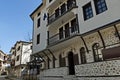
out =
[[103,61],[75,66],[76,76],[120,75],[120,60]]

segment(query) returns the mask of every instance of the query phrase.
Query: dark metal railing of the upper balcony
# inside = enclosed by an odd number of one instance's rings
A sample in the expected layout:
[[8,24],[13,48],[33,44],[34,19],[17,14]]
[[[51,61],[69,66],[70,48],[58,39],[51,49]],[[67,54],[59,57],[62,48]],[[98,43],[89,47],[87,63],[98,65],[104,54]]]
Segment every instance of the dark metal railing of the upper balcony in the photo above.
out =
[[74,7],[76,7],[76,1],[70,0],[69,4],[68,3],[65,4],[64,9],[59,8],[58,12],[56,12],[48,17],[48,24],[54,22],[56,19],[58,19],[59,17],[61,17],[62,15],[64,15],[65,13],[67,13],[69,10],[71,10]]

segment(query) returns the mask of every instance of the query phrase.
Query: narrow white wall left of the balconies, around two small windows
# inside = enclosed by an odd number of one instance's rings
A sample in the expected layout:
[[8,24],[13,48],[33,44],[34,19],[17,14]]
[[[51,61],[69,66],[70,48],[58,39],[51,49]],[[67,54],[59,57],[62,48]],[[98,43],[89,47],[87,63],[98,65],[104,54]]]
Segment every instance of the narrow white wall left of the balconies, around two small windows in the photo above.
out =
[[[33,54],[45,49],[47,46],[47,27],[46,27],[47,18],[45,20],[43,20],[45,13],[47,15],[46,9],[44,8],[41,11],[41,14],[39,16],[41,18],[41,24],[40,24],[39,28],[37,28],[37,19],[39,17],[37,16],[37,14],[34,17]],[[37,44],[37,35],[38,34],[40,34],[40,44]]]

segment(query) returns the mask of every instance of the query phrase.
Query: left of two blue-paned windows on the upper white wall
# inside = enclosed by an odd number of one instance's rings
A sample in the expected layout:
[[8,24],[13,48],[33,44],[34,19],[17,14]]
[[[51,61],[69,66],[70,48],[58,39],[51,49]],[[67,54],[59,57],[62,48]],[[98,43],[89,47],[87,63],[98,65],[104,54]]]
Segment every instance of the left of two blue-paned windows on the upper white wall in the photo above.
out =
[[83,6],[83,15],[84,15],[84,20],[87,20],[93,17],[91,2]]

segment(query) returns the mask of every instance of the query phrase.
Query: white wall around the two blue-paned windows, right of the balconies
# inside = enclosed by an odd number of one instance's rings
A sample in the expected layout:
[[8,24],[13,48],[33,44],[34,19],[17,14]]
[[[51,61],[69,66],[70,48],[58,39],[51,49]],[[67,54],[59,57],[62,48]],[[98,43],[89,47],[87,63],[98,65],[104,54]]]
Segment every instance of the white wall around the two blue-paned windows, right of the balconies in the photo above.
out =
[[[111,22],[120,19],[120,0],[105,0],[108,10],[96,15],[94,0],[76,0],[78,5],[78,18],[80,33],[85,33],[94,30]],[[93,9],[93,17],[84,21],[82,7],[91,2]]]

